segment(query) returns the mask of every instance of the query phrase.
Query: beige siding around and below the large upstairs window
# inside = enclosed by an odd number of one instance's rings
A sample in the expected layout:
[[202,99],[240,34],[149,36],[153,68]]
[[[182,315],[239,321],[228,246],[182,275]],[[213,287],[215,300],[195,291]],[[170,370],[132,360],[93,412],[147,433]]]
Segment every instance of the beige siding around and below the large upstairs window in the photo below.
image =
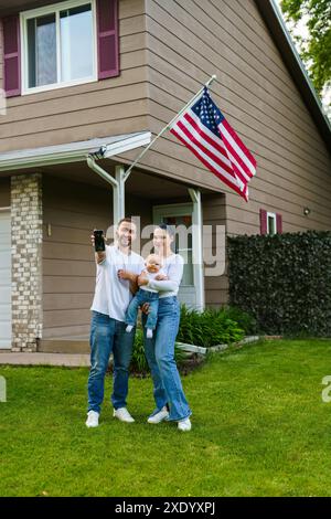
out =
[[0,118],[0,152],[146,130],[143,0],[119,2],[119,38],[118,77],[8,99],[8,114]]

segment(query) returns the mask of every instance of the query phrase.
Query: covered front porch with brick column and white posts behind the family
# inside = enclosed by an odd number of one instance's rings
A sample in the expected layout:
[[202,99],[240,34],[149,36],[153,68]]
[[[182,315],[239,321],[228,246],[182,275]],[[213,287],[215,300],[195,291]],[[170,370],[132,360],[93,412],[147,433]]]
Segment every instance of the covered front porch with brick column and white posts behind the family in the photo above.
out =
[[[141,135],[128,138],[136,139],[131,140],[134,148]],[[124,139],[113,139],[120,153]],[[103,229],[111,243],[111,232],[107,231],[125,214],[140,216],[141,247],[152,236],[152,227],[146,233],[146,225],[162,221],[184,226],[197,223],[188,246],[178,250],[185,258],[179,297],[191,307],[222,305],[227,297],[227,280],[225,276],[204,276],[202,224],[211,224],[212,234],[216,225],[225,224],[225,195],[142,168],[134,169],[124,180],[126,166],[117,156],[97,160],[92,168],[87,153],[82,151],[83,144],[74,145],[75,156],[68,156],[73,150],[67,148],[54,158],[52,150],[52,160],[49,150],[49,155],[43,150],[20,152],[19,168],[17,158],[2,156],[4,192],[2,189],[0,206],[8,216],[6,232],[11,244],[11,251],[6,247],[4,254],[12,333],[1,348],[88,351],[95,287],[89,235],[93,229]]]

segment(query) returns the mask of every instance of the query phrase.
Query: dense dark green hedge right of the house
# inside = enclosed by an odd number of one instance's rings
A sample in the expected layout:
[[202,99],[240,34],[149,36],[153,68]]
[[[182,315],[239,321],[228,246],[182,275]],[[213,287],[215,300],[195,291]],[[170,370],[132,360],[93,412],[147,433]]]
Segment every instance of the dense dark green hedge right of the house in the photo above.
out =
[[331,336],[331,232],[227,239],[229,304],[259,331]]

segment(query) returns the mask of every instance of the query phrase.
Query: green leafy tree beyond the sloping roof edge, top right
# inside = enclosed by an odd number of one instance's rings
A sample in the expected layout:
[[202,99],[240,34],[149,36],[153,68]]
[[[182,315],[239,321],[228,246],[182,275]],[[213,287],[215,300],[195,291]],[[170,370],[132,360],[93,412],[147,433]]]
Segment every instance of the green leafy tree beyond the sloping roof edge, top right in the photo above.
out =
[[316,89],[322,95],[331,83],[331,0],[281,0],[281,10],[293,29],[307,20],[308,38],[293,36],[299,43],[300,55]]

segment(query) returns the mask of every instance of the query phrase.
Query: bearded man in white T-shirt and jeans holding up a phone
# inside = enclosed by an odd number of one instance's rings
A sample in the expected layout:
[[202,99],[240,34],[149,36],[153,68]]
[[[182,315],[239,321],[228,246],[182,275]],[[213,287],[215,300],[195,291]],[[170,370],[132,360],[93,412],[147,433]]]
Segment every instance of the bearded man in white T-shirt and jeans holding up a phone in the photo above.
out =
[[[90,372],[88,377],[87,427],[97,427],[104,400],[105,374],[109,356],[114,356],[114,416],[135,422],[127,410],[129,364],[136,328],[126,331],[125,314],[132,294],[138,290],[137,278],[145,268],[139,254],[131,251],[136,225],[130,218],[120,220],[113,246],[96,252],[97,277],[92,305]],[[92,236],[94,244],[94,237]]]

